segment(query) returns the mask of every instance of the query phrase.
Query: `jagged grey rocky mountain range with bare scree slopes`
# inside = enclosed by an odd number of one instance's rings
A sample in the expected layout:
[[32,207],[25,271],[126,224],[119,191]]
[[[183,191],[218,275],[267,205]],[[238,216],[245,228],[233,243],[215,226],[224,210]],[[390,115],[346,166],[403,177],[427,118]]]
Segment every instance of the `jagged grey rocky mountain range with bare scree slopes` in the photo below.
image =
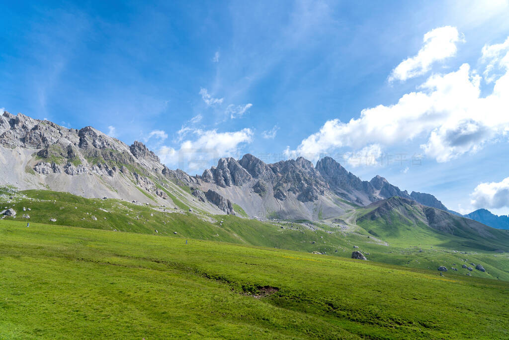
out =
[[[454,213],[433,195],[409,194],[384,177],[361,180],[330,157],[316,165],[302,157],[266,164],[245,154],[240,160],[221,158],[217,166],[191,176],[167,168],[138,141],[127,145],[91,126],[72,129],[8,112],[0,116],[0,161],[3,184],[21,190],[51,189],[209,214],[320,221],[391,197]],[[486,210],[465,217],[509,228],[507,217]]]

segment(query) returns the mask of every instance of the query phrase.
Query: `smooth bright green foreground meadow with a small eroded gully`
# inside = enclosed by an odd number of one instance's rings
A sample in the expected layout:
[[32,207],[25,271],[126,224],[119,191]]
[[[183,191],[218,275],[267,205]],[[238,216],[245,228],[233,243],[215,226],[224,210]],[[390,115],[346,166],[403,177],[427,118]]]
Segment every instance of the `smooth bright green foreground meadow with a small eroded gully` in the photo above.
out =
[[5,338],[507,338],[509,284],[228,243],[0,221]]

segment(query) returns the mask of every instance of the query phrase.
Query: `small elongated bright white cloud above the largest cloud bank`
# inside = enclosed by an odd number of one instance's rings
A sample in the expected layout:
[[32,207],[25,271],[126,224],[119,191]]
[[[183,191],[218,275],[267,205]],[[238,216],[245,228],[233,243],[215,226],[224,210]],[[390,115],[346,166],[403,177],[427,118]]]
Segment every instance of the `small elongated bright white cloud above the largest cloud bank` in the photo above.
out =
[[404,82],[425,74],[433,63],[454,57],[457,52],[456,43],[460,41],[462,38],[455,27],[444,26],[431,30],[424,35],[423,45],[417,55],[405,59],[392,70],[389,82]]

